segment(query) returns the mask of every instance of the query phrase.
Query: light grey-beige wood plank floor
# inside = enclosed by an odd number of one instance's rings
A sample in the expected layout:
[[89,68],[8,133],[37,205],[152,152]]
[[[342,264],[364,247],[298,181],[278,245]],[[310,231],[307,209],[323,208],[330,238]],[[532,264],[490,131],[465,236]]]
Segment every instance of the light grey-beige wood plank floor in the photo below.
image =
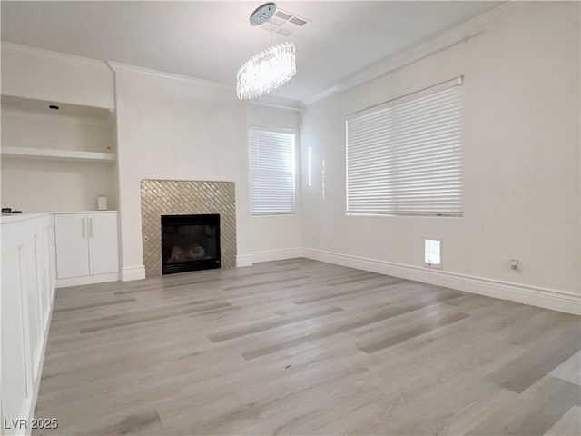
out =
[[295,259],[58,290],[34,434],[581,434],[580,318]]

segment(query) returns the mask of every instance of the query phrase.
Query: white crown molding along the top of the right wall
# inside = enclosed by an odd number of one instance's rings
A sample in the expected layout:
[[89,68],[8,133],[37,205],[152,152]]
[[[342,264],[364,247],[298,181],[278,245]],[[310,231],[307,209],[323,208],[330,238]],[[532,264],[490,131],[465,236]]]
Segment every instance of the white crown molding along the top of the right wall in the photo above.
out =
[[448,47],[468,41],[468,39],[482,34],[486,26],[491,22],[494,22],[501,16],[507,15],[507,13],[512,12],[518,7],[522,7],[526,3],[507,2],[482,15],[469,19],[460,25],[450,27],[436,35],[430,35],[416,44],[404,47],[394,54],[389,54],[379,59],[379,61],[359,69],[357,73],[345,77],[339,84],[331,86],[329,89],[303,100],[303,104],[307,106],[330,95],[343,94],[362,84],[367,84],[386,74],[393,73],[404,66],[418,62],[432,54],[437,54]]

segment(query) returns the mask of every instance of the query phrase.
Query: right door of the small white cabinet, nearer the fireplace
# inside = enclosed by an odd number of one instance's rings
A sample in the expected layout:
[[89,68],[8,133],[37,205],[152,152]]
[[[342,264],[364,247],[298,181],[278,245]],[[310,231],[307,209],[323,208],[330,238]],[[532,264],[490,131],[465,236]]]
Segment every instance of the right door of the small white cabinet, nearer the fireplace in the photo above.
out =
[[89,213],[91,274],[119,272],[117,213]]

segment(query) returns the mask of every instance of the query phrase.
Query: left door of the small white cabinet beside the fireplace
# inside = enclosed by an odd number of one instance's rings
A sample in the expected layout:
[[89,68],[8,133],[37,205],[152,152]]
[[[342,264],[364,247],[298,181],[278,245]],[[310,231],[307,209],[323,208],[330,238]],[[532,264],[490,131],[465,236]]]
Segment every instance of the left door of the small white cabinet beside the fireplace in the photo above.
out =
[[54,215],[56,275],[59,279],[89,275],[89,245],[85,213]]

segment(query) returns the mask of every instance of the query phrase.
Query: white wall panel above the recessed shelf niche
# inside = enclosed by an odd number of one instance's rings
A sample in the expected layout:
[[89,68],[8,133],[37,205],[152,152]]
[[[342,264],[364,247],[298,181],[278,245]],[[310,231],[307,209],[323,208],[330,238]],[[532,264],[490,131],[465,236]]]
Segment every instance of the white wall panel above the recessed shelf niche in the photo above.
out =
[[103,61],[2,43],[2,94],[114,108],[113,73]]

